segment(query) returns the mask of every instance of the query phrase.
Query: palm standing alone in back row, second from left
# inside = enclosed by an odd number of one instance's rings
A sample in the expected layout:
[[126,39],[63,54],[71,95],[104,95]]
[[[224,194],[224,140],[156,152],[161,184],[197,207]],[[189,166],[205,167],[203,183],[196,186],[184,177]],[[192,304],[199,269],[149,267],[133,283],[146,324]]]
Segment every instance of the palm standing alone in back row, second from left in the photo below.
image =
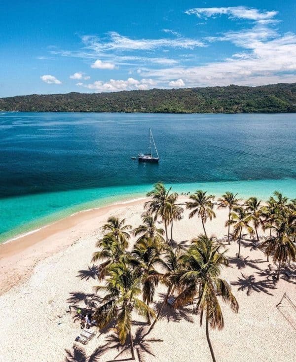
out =
[[193,201],[186,202],[186,208],[192,210],[189,214],[189,218],[193,217],[195,214],[197,214],[197,216],[201,218],[202,227],[204,229],[205,235],[207,235],[207,233],[204,224],[207,221],[207,218],[212,220],[213,217],[216,217],[216,214],[213,211],[213,200],[215,199],[215,196],[206,196],[206,193],[207,191],[196,190],[194,194],[189,196],[189,199]]

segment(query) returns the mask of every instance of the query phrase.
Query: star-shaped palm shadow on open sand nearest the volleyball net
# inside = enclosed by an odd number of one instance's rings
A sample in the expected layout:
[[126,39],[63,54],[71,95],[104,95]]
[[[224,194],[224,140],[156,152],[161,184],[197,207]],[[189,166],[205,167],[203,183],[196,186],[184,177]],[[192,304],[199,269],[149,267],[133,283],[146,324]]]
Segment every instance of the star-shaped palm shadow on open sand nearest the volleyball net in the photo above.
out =
[[245,291],[249,296],[251,293],[256,291],[257,293],[263,292],[268,295],[273,295],[268,290],[275,290],[276,287],[272,281],[269,280],[259,280],[257,281],[254,274],[246,276],[241,273],[242,278],[238,278],[237,282],[231,282],[232,286],[239,286],[237,290]]

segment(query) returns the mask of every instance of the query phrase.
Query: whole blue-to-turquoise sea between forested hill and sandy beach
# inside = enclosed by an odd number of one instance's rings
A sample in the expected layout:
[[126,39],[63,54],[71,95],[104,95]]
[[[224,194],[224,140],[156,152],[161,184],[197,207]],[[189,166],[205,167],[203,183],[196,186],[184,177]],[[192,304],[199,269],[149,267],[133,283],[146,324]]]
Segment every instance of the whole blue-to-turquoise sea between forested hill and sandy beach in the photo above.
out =
[[[0,241],[80,210],[177,192],[296,197],[296,114],[0,114]],[[148,151],[159,164],[131,160]]]

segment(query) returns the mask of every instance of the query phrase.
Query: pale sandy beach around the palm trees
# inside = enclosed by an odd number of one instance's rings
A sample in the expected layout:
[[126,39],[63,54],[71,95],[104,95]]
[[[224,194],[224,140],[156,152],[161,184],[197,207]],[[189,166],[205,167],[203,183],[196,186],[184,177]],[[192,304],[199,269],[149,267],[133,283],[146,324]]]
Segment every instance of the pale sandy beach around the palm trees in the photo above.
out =
[[[134,200],[78,213],[0,246],[1,362],[86,362],[86,356],[95,350],[97,360],[92,361],[116,358],[120,350],[110,330],[98,330],[86,346],[74,341],[81,329],[74,308],[69,313],[69,305],[94,310],[99,304],[100,295],[93,289],[98,284],[97,268],[91,256],[103,235],[102,225],[110,215],[139,225],[144,202]],[[207,233],[222,238],[227,233],[227,211],[215,211],[217,218],[206,223]],[[175,223],[174,239],[189,244],[201,232],[200,220],[188,219],[185,211],[183,219]],[[132,238],[130,247],[133,243]],[[296,304],[296,283],[281,278],[274,284],[269,262],[248,235],[240,259],[235,242],[226,247],[230,266],[222,270],[222,277],[230,281],[240,308],[235,315],[221,303],[225,328],[210,331],[217,361],[295,361],[296,311],[287,303],[280,308],[276,305],[285,292]],[[163,287],[157,289],[155,308],[164,292]],[[210,362],[205,326],[199,326],[192,307],[176,311],[166,307],[164,312],[146,339],[141,336],[147,325],[134,316],[137,361]],[[127,350],[116,360],[129,358]]]

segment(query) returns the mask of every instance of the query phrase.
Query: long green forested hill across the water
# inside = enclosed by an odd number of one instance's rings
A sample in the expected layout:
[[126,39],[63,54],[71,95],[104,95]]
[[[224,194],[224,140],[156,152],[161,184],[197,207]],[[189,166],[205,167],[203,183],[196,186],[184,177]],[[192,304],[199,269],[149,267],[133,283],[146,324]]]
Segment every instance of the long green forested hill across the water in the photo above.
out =
[[296,112],[296,83],[0,98],[0,110],[51,112]]

